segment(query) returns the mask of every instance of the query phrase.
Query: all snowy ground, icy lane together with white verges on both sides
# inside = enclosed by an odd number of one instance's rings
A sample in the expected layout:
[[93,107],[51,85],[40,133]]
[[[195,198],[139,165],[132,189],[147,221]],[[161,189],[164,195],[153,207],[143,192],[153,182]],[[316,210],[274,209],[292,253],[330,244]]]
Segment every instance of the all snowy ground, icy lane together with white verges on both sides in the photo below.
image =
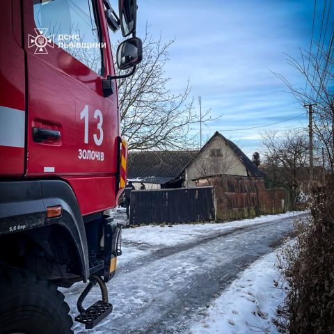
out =
[[[113,214],[116,221],[126,221],[124,209],[113,210]],[[271,260],[265,257],[267,263],[262,262],[249,274],[246,268],[280,244],[292,231],[293,217],[300,214],[305,213],[230,223],[124,229],[118,271],[107,283],[113,312],[93,331],[74,324],[74,333],[189,333],[190,326],[194,334],[244,334],[257,331],[252,331],[251,326],[267,328],[271,313],[264,313],[270,308],[275,310],[273,305],[278,300],[276,290],[271,289],[273,279],[267,277],[274,270],[274,256]],[[242,273],[245,269],[246,273]],[[237,283],[230,285],[238,275]],[[85,286],[77,283],[62,290],[72,317],[77,315],[77,299]],[[225,293],[225,289],[230,292]],[[223,297],[214,301],[221,293]],[[100,289],[95,287],[84,307],[100,298]],[[267,319],[256,315],[259,310]]]

